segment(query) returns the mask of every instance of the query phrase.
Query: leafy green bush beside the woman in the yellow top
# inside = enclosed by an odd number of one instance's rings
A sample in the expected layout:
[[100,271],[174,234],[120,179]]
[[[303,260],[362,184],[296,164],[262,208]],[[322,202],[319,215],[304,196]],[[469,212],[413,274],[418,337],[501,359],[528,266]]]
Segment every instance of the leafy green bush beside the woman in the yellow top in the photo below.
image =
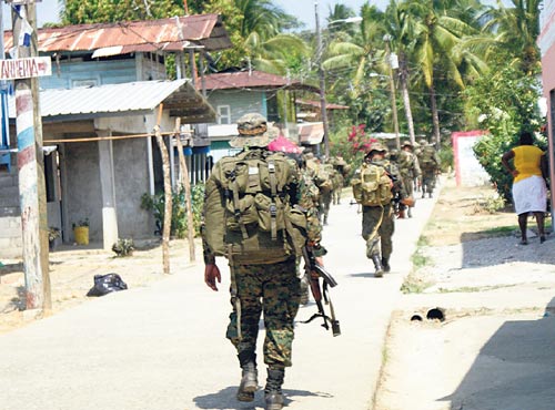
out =
[[522,130],[538,131],[543,119],[537,100],[541,86],[534,76],[512,66],[498,66],[466,89],[468,116],[490,132],[474,145],[474,153],[490,174],[497,192],[511,201],[513,177],[501,163],[516,146]]

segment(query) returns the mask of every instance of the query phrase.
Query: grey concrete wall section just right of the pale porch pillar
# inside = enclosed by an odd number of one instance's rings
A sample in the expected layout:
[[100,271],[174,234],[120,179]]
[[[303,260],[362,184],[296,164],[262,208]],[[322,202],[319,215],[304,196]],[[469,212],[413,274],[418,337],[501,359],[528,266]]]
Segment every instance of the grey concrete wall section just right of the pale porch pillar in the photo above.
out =
[[141,209],[141,196],[149,192],[147,140],[113,142],[115,206],[120,238],[145,238],[154,233],[151,213]]

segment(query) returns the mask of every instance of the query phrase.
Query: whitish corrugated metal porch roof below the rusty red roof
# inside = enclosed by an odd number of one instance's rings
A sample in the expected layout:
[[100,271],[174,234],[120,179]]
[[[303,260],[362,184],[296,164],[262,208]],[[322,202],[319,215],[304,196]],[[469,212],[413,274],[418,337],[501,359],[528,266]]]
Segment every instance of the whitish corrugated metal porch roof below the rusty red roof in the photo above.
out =
[[[14,96],[9,102],[10,117],[16,117]],[[143,113],[154,110],[162,102],[171,116],[183,117],[186,123],[215,120],[214,110],[194,90],[190,80],[139,81],[40,92],[41,115],[51,121]]]

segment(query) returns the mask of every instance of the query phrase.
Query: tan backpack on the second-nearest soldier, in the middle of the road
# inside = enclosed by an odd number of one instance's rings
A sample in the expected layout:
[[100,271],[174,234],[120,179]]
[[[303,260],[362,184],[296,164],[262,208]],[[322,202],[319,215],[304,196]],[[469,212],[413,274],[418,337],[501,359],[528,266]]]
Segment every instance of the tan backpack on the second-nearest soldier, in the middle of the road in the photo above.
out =
[[351,185],[354,199],[364,206],[386,205],[393,198],[392,181],[380,165],[363,163]]

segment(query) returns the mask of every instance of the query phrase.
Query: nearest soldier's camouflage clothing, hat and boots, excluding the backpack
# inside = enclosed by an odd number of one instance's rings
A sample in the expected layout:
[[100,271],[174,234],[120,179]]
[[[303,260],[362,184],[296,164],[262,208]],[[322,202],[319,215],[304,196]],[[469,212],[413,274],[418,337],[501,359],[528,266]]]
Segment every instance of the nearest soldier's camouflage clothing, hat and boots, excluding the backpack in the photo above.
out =
[[[230,145],[244,147],[244,150],[252,152],[266,151],[265,147],[274,137],[269,132],[270,126],[268,126],[265,119],[259,114],[246,114],[241,117],[238,121],[238,130],[240,135],[232,140]],[[286,197],[290,198],[291,206],[293,206],[300,203],[300,198],[306,201],[311,194],[306,191],[306,184],[304,184],[296,164],[289,163],[294,168],[295,177],[286,186],[289,193]],[[212,181],[213,175],[206,181],[206,192],[210,186],[213,188],[215,184]],[[309,202],[303,203],[303,205],[307,206],[307,237],[314,244],[314,254],[321,256],[325,249],[319,245],[321,239],[319,219],[314,218],[315,211],[313,206],[309,206]],[[208,280],[206,284],[215,290],[214,278],[206,279],[206,269],[213,269],[215,266],[215,255],[210,249],[204,234],[203,239],[204,264],[206,265],[205,281]],[[291,347],[294,338],[294,319],[301,294],[295,256],[285,256],[281,260],[275,260],[274,257],[261,263],[260,259],[255,262],[250,259],[249,255],[241,255],[241,258],[233,257],[229,263],[232,273],[232,312],[226,338],[235,347],[243,370],[236,397],[241,401],[252,401],[254,391],[258,389],[255,350],[259,321],[263,311],[266,332],[263,352],[264,362],[269,367],[264,390],[265,399],[269,407],[279,409],[283,404],[281,386],[284,368],[292,366]],[[209,281],[214,286],[211,286]],[[238,324],[240,324],[240,329]]]

